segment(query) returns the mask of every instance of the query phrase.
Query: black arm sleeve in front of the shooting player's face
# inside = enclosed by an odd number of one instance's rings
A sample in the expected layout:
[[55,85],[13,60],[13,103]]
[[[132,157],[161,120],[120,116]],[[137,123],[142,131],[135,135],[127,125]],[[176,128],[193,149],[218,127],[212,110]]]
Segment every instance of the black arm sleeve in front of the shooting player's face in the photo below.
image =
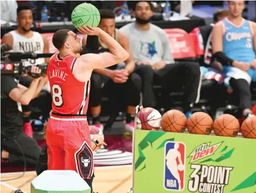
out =
[[98,49],[99,49],[100,45],[99,45],[99,39],[98,36],[87,36],[87,40],[86,40],[86,45],[82,46],[83,48],[83,52],[81,53],[81,55],[83,54],[95,54]]

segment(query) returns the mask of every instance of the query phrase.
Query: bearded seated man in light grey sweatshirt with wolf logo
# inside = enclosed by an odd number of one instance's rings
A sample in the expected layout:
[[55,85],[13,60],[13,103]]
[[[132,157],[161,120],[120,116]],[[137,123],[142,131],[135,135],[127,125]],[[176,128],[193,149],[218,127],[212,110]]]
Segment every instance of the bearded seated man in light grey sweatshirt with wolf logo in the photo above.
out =
[[183,111],[189,116],[193,103],[199,101],[200,69],[197,63],[175,63],[164,30],[151,24],[153,16],[148,1],[137,1],[134,9],[136,22],[129,23],[119,31],[125,33],[137,64],[135,72],[142,78],[144,107],[155,107],[153,81],[162,86],[166,99],[171,86],[184,88]]

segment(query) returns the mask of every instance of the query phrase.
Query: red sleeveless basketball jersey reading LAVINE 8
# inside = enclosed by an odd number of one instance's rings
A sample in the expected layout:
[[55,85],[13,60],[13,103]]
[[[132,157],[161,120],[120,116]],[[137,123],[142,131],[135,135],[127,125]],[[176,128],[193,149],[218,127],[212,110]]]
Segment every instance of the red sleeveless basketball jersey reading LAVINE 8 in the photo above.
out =
[[73,73],[76,58],[63,59],[55,54],[49,61],[47,76],[51,86],[52,112],[59,114],[86,114],[89,102],[90,80],[80,82]]

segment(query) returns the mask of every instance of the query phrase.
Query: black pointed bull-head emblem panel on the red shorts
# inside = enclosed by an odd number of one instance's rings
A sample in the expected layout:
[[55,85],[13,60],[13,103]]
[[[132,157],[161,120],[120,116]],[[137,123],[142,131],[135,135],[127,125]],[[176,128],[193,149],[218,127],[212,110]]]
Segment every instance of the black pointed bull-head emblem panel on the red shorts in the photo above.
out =
[[86,141],[75,153],[77,172],[83,179],[90,179],[93,175],[93,153]]

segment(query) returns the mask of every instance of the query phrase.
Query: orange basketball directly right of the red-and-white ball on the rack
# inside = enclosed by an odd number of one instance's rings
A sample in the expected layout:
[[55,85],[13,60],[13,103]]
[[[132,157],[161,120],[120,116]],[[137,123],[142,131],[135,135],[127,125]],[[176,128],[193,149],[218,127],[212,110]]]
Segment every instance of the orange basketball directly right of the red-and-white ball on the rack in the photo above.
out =
[[187,118],[181,111],[167,111],[161,121],[161,127],[164,131],[183,133],[187,125]]

